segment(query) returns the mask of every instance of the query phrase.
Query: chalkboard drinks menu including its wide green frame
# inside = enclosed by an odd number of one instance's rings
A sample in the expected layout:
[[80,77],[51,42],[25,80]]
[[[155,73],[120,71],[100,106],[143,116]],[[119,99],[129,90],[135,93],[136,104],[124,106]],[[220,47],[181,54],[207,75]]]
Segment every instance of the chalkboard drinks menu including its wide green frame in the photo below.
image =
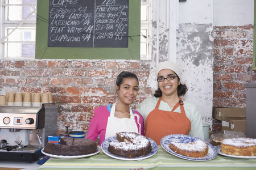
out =
[[36,59],[140,59],[141,0],[38,0]]

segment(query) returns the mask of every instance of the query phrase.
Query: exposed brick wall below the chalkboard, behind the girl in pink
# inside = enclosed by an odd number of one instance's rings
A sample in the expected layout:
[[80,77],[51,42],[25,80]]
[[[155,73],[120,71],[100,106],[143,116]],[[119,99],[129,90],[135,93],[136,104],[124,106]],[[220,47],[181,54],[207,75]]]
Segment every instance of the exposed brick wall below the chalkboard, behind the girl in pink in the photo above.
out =
[[87,113],[115,101],[115,77],[121,71],[137,74],[140,91],[136,103],[152,94],[147,86],[150,61],[1,60],[0,91],[52,92],[58,107],[58,128],[65,131],[89,127]]

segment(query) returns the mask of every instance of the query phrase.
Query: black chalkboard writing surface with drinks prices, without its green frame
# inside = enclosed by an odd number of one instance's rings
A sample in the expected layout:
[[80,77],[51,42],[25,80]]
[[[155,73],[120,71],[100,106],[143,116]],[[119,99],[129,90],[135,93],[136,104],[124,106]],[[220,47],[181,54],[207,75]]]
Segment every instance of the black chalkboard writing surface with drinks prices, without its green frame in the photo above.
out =
[[129,0],[50,0],[48,46],[127,48]]

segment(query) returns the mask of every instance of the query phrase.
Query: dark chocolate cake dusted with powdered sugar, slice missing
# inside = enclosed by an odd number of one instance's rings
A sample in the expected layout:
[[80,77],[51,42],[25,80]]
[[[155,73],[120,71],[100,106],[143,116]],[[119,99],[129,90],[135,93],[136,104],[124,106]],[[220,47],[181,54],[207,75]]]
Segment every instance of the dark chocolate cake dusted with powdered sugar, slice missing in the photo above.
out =
[[117,133],[117,141],[110,142],[108,147],[108,151],[117,156],[135,158],[145,156],[152,151],[150,140],[137,133]]

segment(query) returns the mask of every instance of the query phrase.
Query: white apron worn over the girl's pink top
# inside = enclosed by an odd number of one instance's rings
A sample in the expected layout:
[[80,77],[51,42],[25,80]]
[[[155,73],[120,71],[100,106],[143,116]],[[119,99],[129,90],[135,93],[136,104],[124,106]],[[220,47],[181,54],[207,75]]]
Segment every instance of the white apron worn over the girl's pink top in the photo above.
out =
[[[105,139],[114,136],[118,132],[135,132],[138,133],[138,128],[135,122],[133,111],[130,108],[130,118],[117,118],[115,115],[115,103],[113,104],[108,118],[108,124],[106,127]],[[135,116],[137,116],[135,114]],[[139,116],[137,116],[139,122]],[[139,134],[141,134],[141,125],[139,124]]]

